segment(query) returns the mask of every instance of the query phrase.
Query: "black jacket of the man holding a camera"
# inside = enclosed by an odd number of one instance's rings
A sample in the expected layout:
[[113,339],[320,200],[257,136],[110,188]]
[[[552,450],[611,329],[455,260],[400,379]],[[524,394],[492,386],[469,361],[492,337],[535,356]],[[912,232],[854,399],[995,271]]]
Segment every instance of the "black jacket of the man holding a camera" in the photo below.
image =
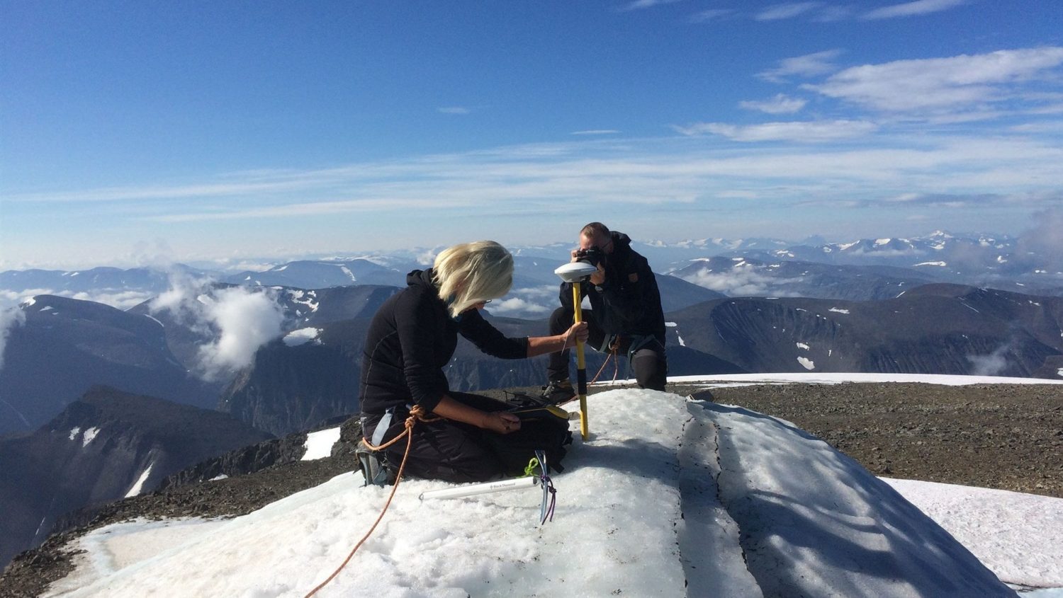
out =
[[[649,262],[631,249],[631,239],[615,230],[612,253],[605,260],[605,283],[598,291],[589,280],[580,293],[590,300],[591,318],[606,334],[654,336],[664,343],[664,310]],[[572,284],[561,283],[561,305],[572,308]]]

